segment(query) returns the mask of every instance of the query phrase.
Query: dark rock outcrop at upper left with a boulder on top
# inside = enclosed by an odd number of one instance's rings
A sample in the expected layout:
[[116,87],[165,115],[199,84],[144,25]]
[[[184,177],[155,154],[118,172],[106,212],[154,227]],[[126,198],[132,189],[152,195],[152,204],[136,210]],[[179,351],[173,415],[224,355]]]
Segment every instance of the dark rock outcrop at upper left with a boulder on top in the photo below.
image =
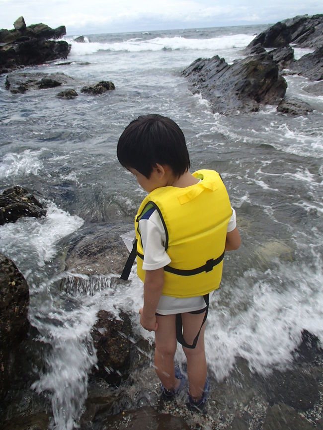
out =
[[71,45],[64,40],[55,40],[65,34],[64,25],[55,29],[43,23],[26,26],[21,16],[15,21],[13,30],[0,30],[0,43],[3,44],[0,46],[0,73],[67,58]]

